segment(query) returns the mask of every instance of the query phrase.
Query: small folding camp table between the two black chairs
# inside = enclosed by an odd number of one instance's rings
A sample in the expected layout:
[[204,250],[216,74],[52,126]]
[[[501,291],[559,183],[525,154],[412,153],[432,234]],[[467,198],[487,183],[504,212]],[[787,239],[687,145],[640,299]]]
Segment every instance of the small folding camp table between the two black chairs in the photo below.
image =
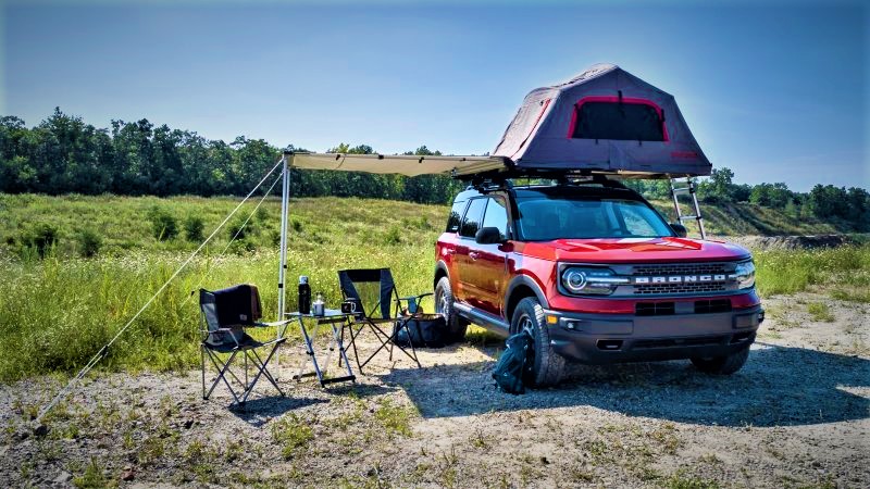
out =
[[[344,381],[357,381],[357,376],[353,375],[353,371],[350,369],[350,362],[347,360],[347,353],[345,352],[345,344],[343,342],[344,337],[344,326],[348,321],[348,317],[351,314],[345,314],[337,309],[327,309],[324,311],[322,316],[315,316],[313,314],[302,314],[300,312],[291,312],[287,313],[286,316],[288,318],[296,318],[297,323],[299,324],[299,330],[302,333],[302,339],[306,342],[306,356],[299,362],[299,372],[298,374],[294,375],[293,378],[297,381],[302,380],[303,377],[318,377],[318,381],[320,381],[321,387],[326,387],[328,384],[335,383],[344,383]],[[306,327],[306,321],[313,321],[314,327],[309,335],[308,328]],[[324,365],[330,365],[330,361],[332,360],[333,352],[338,349],[338,365],[340,366],[344,362],[345,368],[347,368],[347,375],[340,377],[332,377],[325,378],[323,376],[323,371],[320,368],[318,364],[318,358],[314,353],[314,338],[318,335],[318,330],[321,326],[328,325],[333,333],[332,341],[330,342],[328,347],[328,354],[326,355],[326,363]],[[338,325],[338,327],[336,327]],[[339,328],[341,329],[339,331]],[[313,372],[304,372],[306,364],[308,363],[308,359],[311,359],[311,363],[314,366]]]

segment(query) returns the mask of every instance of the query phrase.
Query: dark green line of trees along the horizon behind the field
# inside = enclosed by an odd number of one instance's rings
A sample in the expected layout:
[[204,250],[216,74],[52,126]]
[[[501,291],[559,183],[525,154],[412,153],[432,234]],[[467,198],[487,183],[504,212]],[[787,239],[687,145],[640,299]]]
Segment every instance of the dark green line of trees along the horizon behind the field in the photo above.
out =
[[[263,139],[211,140],[195,131],[154,126],[148,120],[112,121],[97,128],[82,117],[54,113],[28,128],[15,116],[0,117],[0,192],[115,193],[123,196],[241,196],[262,178],[282,150]],[[366,145],[338,145],[327,152],[374,153]],[[403,154],[442,154],[425,146]],[[447,203],[462,184],[442,175],[405,177],[352,172],[293,170],[297,197],[373,197],[421,203]],[[630,180],[647,198],[670,197],[664,180]],[[273,192],[277,193],[278,188]],[[870,230],[870,195],[862,188],[816,185],[809,192],[784,183],[735,184],[729,168],[712,171],[698,186],[710,203],[749,202],[800,216],[847,221]]]

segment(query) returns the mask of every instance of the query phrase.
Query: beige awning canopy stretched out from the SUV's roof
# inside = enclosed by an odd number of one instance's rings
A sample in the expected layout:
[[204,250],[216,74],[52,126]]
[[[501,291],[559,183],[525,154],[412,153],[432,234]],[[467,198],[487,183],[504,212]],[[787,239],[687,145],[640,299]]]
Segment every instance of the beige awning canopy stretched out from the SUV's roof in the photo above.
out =
[[408,154],[285,153],[294,168],[457,177],[511,167],[504,156],[423,156]]

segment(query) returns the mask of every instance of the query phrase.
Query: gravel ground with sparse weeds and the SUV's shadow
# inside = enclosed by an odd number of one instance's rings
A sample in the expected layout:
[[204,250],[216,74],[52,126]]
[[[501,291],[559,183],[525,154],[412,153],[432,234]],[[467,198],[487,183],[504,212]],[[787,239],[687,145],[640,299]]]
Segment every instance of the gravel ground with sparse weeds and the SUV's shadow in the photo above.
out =
[[[811,314],[812,304],[828,314]],[[510,396],[500,341],[382,355],[356,386],[296,383],[288,349],[247,411],[199,372],[88,379],[35,434],[51,377],[0,386],[0,482],[38,486],[870,487],[870,304],[766,301],[747,365],[575,366]],[[815,306],[818,309],[819,306]],[[369,344],[371,346],[371,343]],[[333,366],[333,369],[335,367]]]

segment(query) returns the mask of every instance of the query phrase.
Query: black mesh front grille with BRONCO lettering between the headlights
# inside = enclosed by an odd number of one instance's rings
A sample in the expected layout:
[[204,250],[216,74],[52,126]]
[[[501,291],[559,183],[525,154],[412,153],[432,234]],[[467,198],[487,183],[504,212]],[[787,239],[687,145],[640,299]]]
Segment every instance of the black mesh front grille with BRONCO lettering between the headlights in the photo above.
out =
[[[664,263],[657,265],[635,265],[632,275],[635,277],[669,277],[728,275],[728,263]],[[732,265],[733,266],[733,265]],[[633,291],[637,296],[723,292],[729,290],[726,281],[679,281],[635,284]]]

